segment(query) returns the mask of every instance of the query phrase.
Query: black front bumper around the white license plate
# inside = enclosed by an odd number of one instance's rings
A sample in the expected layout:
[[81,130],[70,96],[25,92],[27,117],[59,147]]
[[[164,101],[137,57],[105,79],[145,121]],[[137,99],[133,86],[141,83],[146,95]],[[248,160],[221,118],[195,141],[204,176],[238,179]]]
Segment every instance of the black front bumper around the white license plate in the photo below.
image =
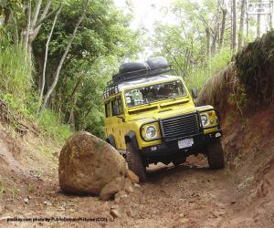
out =
[[[186,157],[191,154],[205,153],[206,145],[212,140],[220,138],[222,136],[222,130],[217,130],[209,134],[199,134],[195,136],[184,137],[184,139],[193,138],[194,144],[191,147],[179,149],[178,140],[163,141],[161,144],[142,148],[142,156],[144,158],[164,157],[164,156],[182,156]],[[161,160],[160,160],[161,161]]]

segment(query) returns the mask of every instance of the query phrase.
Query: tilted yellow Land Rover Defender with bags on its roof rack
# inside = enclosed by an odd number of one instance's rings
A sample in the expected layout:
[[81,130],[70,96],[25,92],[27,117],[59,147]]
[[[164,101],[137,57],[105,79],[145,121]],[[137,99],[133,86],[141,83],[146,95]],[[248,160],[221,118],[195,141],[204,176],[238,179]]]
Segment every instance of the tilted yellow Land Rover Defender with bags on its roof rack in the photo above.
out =
[[106,140],[141,181],[147,167],[183,163],[203,153],[211,169],[224,167],[220,117],[212,106],[195,107],[181,77],[168,74],[163,57],[122,64],[104,92]]

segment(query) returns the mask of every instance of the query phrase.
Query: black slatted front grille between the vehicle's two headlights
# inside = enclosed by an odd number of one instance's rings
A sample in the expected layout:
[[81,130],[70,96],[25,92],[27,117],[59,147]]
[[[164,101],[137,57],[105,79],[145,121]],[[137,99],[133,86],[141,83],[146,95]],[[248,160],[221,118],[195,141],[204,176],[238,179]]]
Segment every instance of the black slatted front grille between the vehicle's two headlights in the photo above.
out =
[[200,130],[197,113],[161,119],[161,127],[165,141],[195,135]]

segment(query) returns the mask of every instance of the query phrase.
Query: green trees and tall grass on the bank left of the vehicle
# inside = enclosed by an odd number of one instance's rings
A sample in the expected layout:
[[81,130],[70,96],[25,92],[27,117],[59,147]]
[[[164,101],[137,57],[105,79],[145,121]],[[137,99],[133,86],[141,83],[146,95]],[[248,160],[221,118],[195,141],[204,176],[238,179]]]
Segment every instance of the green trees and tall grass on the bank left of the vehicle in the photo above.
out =
[[1,1],[0,98],[55,140],[74,130],[103,138],[103,89],[122,59],[140,50],[138,35],[129,28],[131,17],[111,0]]

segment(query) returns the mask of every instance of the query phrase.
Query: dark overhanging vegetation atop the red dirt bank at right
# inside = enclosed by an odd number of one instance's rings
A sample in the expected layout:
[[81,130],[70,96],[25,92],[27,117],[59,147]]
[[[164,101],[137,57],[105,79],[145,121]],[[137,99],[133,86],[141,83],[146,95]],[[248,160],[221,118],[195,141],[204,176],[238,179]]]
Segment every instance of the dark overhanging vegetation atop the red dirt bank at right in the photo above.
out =
[[258,102],[274,102],[274,31],[243,48],[236,56],[238,78],[248,97]]

